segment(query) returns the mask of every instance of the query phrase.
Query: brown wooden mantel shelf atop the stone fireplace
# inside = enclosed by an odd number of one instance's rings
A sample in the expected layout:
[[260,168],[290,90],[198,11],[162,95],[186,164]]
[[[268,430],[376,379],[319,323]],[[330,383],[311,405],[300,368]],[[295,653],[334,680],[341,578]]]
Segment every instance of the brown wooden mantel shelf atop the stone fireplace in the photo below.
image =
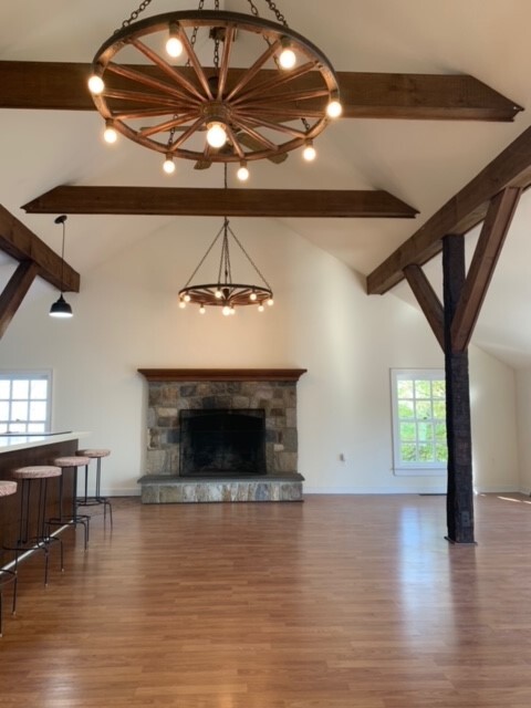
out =
[[149,382],[299,381],[306,368],[138,368]]

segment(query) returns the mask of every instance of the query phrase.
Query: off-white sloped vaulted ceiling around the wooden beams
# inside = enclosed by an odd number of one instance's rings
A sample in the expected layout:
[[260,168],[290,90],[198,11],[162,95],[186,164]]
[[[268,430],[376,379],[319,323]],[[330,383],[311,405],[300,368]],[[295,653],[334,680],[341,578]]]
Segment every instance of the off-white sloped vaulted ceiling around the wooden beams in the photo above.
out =
[[[264,2],[256,0],[267,17]],[[139,4],[139,3],[138,3]],[[206,0],[206,7],[212,6]],[[247,4],[247,3],[246,3]],[[284,219],[309,241],[367,275],[442,204],[531,125],[531,3],[529,0],[281,0],[291,28],[329,56],[337,71],[470,74],[524,108],[513,123],[342,119],[317,140],[319,158],[302,165],[252,166],[254,188],[385,189],[419,211],[403,219]],[[0,24],[0,60],[90,62],[122,21],[131,0],[24,0],[12,3]],[[153,0],[146,13],[187,10],[188,0]],[[244,11],[242,2],[220,3]],[[1,92],[1,86],[0,86]],[[55,250],[50,215],[20,207],[63,184],[168,186],[155,154],[100,139],[96,113],[0,111],[0,204]],[[220,187],[220,166],[195,171],[179,164],[175,187]],[[483,304],[472,342],[513,366],[531,365],[531,301],[524,195]],[[171,217],[75,216],[69,223],[69,262],[81,273],[170,222]],[[467,237],[471,250],[477,235]],[[9,271],[3,259],[1,273]],[[433,261],[428,273],[440,280]],[[414,302],[407,284],[395,295]],[[374,295],[377,296],[377,295]],[[392,295],[385,295],[392,296]]]

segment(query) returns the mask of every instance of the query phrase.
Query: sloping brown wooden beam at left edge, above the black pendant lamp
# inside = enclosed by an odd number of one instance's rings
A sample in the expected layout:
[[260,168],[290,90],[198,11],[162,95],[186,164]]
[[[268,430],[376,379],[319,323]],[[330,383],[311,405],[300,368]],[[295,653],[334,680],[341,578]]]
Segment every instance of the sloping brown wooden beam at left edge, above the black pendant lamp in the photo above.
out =
[[[38,274],[64,292],[80,292],[80,274],[61,257],[0,205],[0,250],[18,261],[33,261]],[[64,271],[64,272],[63,272]]]

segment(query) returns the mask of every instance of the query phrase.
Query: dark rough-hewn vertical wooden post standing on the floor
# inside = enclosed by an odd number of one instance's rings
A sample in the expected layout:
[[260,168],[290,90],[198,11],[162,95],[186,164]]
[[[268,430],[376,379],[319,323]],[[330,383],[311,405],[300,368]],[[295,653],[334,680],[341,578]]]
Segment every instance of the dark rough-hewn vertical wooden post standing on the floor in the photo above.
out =
[[451,322],[466,282],[465,239],[461,236],[442,239],[442,275],[448,437],[447,538],[451,543],[475,543],[468,350],[455,352],[451,345]]

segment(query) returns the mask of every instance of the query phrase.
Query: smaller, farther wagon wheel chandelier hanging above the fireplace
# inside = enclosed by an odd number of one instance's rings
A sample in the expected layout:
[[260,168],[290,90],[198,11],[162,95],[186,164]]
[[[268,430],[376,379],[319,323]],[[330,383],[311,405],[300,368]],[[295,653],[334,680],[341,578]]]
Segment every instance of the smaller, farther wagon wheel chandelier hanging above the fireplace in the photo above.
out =
[[[225,188],[227,189],[227,163],[225,164]],[[230,238],[260,279],[260,284],[233,282],[229,248]],[[219,257],[217,281],[192,284],[191,281],[208,259],[216,243],[219,241],[221,241],[221,252]],[[208,247],[205,256],[199,261],[185,287],[179,291],[179,308],[185,309],[189,303],[198,304],[200,314],[205,314],[207,306],[215,306],[221,308],[221,313],[223,315],[236,314],[236,308],[241,305],[257,305],[258,312],[263,312],[266,310],[264,305],[271,306],[273,304],[273,291],[271,290],[271,285],[262,275],[252,258],[230,228],[229,219],[227,217],[223,218],[223,225]]]

